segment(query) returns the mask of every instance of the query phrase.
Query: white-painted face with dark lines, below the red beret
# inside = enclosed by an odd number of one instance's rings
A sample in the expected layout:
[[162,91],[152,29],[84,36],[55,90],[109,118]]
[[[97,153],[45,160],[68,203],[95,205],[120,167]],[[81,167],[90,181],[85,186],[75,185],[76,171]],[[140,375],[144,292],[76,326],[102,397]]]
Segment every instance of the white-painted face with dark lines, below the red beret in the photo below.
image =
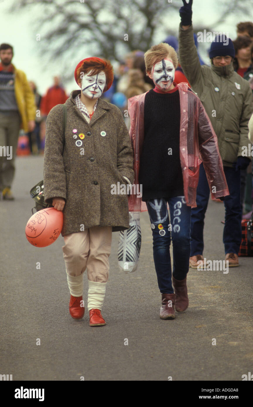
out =
[[99,98],[103,93],[106,83],[106,76],[104,71],[99,72],[99,74],[89,76],[91,72],[92,70],[83,76],[81,89],[87,98],[96,99]]

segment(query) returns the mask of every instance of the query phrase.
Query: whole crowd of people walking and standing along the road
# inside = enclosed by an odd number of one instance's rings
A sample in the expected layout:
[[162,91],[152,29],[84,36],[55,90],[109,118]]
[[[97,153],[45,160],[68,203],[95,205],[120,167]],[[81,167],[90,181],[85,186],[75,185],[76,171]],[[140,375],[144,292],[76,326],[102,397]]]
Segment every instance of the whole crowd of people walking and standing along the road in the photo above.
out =
[[[179,12],[178,39],[169,36],[146,53],[129,53],[114,76],[111,63],[105,59],[80,61],[75,79],[81,90],[73,91],[69,98],[58,77],[46,95],[37,94],[35,83],[29,85],[24,72],[11,63],[13,47],[0,45],[0,144],[13,146],[10,160],[0,157],[2,197],[13,199],[11,184],[20,126],[29,135],[31,150],[35,137],[39,151],[41,118],[47,116],[45,199],[64,211],[63,254],[71,293],[70,315],[76,319],[83,316],[82,278],[87,266],[92,326],[105,325],[100,311],[109,274],[111,232],[129,227],[128,209],[140,211],[146,205],[148,210],[162,294],[161,319],[174,319],[175,310],[187,309],[189,265],[196,269],[201,261],[205,266],[203,229],[210,193],[225,206],[225,259],[229,267],[239,265],[242,211],[246,217],[252,214],[252,156],[251,148],[246,155],[244,148],[253,140],[253,23],[240,22],[234,41],[218,33],[207,65],[197,49],[192,0],[183,0]],[[59,125],[59,105],[64,103],[66,126],[74,140],[66,141],[67,149],[63,125]],[[90,136],[97,141],[96,152]],[[76,149],[84,142],[87,158],[93,163],[87,164],[85,177]],[[140,182],[142,201],[136,195],[128,202],[127,197],[112,198],[107,184],[115,174],[126,184]],[[73,208],[78,206],[80,194],[83,207],[76,212]],[[172,230],[168,228],[167,204]]]

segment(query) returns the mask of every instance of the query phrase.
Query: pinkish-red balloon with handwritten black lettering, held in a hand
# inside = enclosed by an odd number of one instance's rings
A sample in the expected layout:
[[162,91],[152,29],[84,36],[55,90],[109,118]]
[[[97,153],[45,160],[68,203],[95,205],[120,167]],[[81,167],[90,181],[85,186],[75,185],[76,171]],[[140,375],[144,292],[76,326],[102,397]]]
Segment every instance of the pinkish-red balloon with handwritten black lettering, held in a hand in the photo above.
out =
[[26,224],[26,239],[33,246],[46,247],[58,239],[63,226],[63,212],[55,208],[41,209]]

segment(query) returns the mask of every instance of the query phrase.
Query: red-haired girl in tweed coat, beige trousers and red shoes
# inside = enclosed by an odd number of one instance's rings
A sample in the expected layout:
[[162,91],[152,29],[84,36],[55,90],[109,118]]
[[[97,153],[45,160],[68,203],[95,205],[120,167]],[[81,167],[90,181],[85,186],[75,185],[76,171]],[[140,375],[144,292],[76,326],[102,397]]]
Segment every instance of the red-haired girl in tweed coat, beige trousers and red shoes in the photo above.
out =
[[65,103],[65,126],[62,105],[47,118],[45,200],[63,210],[70,315],[83,318],[87,269],[89,324],[101,326],[112,232],[129,228],[127,196],[113,195],[112,184],[133,182],[133,152],[120,109],[100,99],[113,82],[111,63],[85,58],[74,75],[81,90]]

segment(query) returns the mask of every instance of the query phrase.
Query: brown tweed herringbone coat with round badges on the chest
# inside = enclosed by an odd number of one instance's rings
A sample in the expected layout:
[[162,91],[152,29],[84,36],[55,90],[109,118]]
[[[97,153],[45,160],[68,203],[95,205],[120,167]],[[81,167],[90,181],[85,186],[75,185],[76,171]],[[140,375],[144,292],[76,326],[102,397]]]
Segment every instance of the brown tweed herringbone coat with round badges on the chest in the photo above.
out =
[[[93,226],[129,228],[128,197],[113,195],[112,184],[133,183],[133,150],[120,109],[98,99],[90,123],[76,107],[74,90],[63,107],[50,110],[46,121],[44,194],[65,199],[62,236]],[[80,135],[80,136],[79,136]]]

